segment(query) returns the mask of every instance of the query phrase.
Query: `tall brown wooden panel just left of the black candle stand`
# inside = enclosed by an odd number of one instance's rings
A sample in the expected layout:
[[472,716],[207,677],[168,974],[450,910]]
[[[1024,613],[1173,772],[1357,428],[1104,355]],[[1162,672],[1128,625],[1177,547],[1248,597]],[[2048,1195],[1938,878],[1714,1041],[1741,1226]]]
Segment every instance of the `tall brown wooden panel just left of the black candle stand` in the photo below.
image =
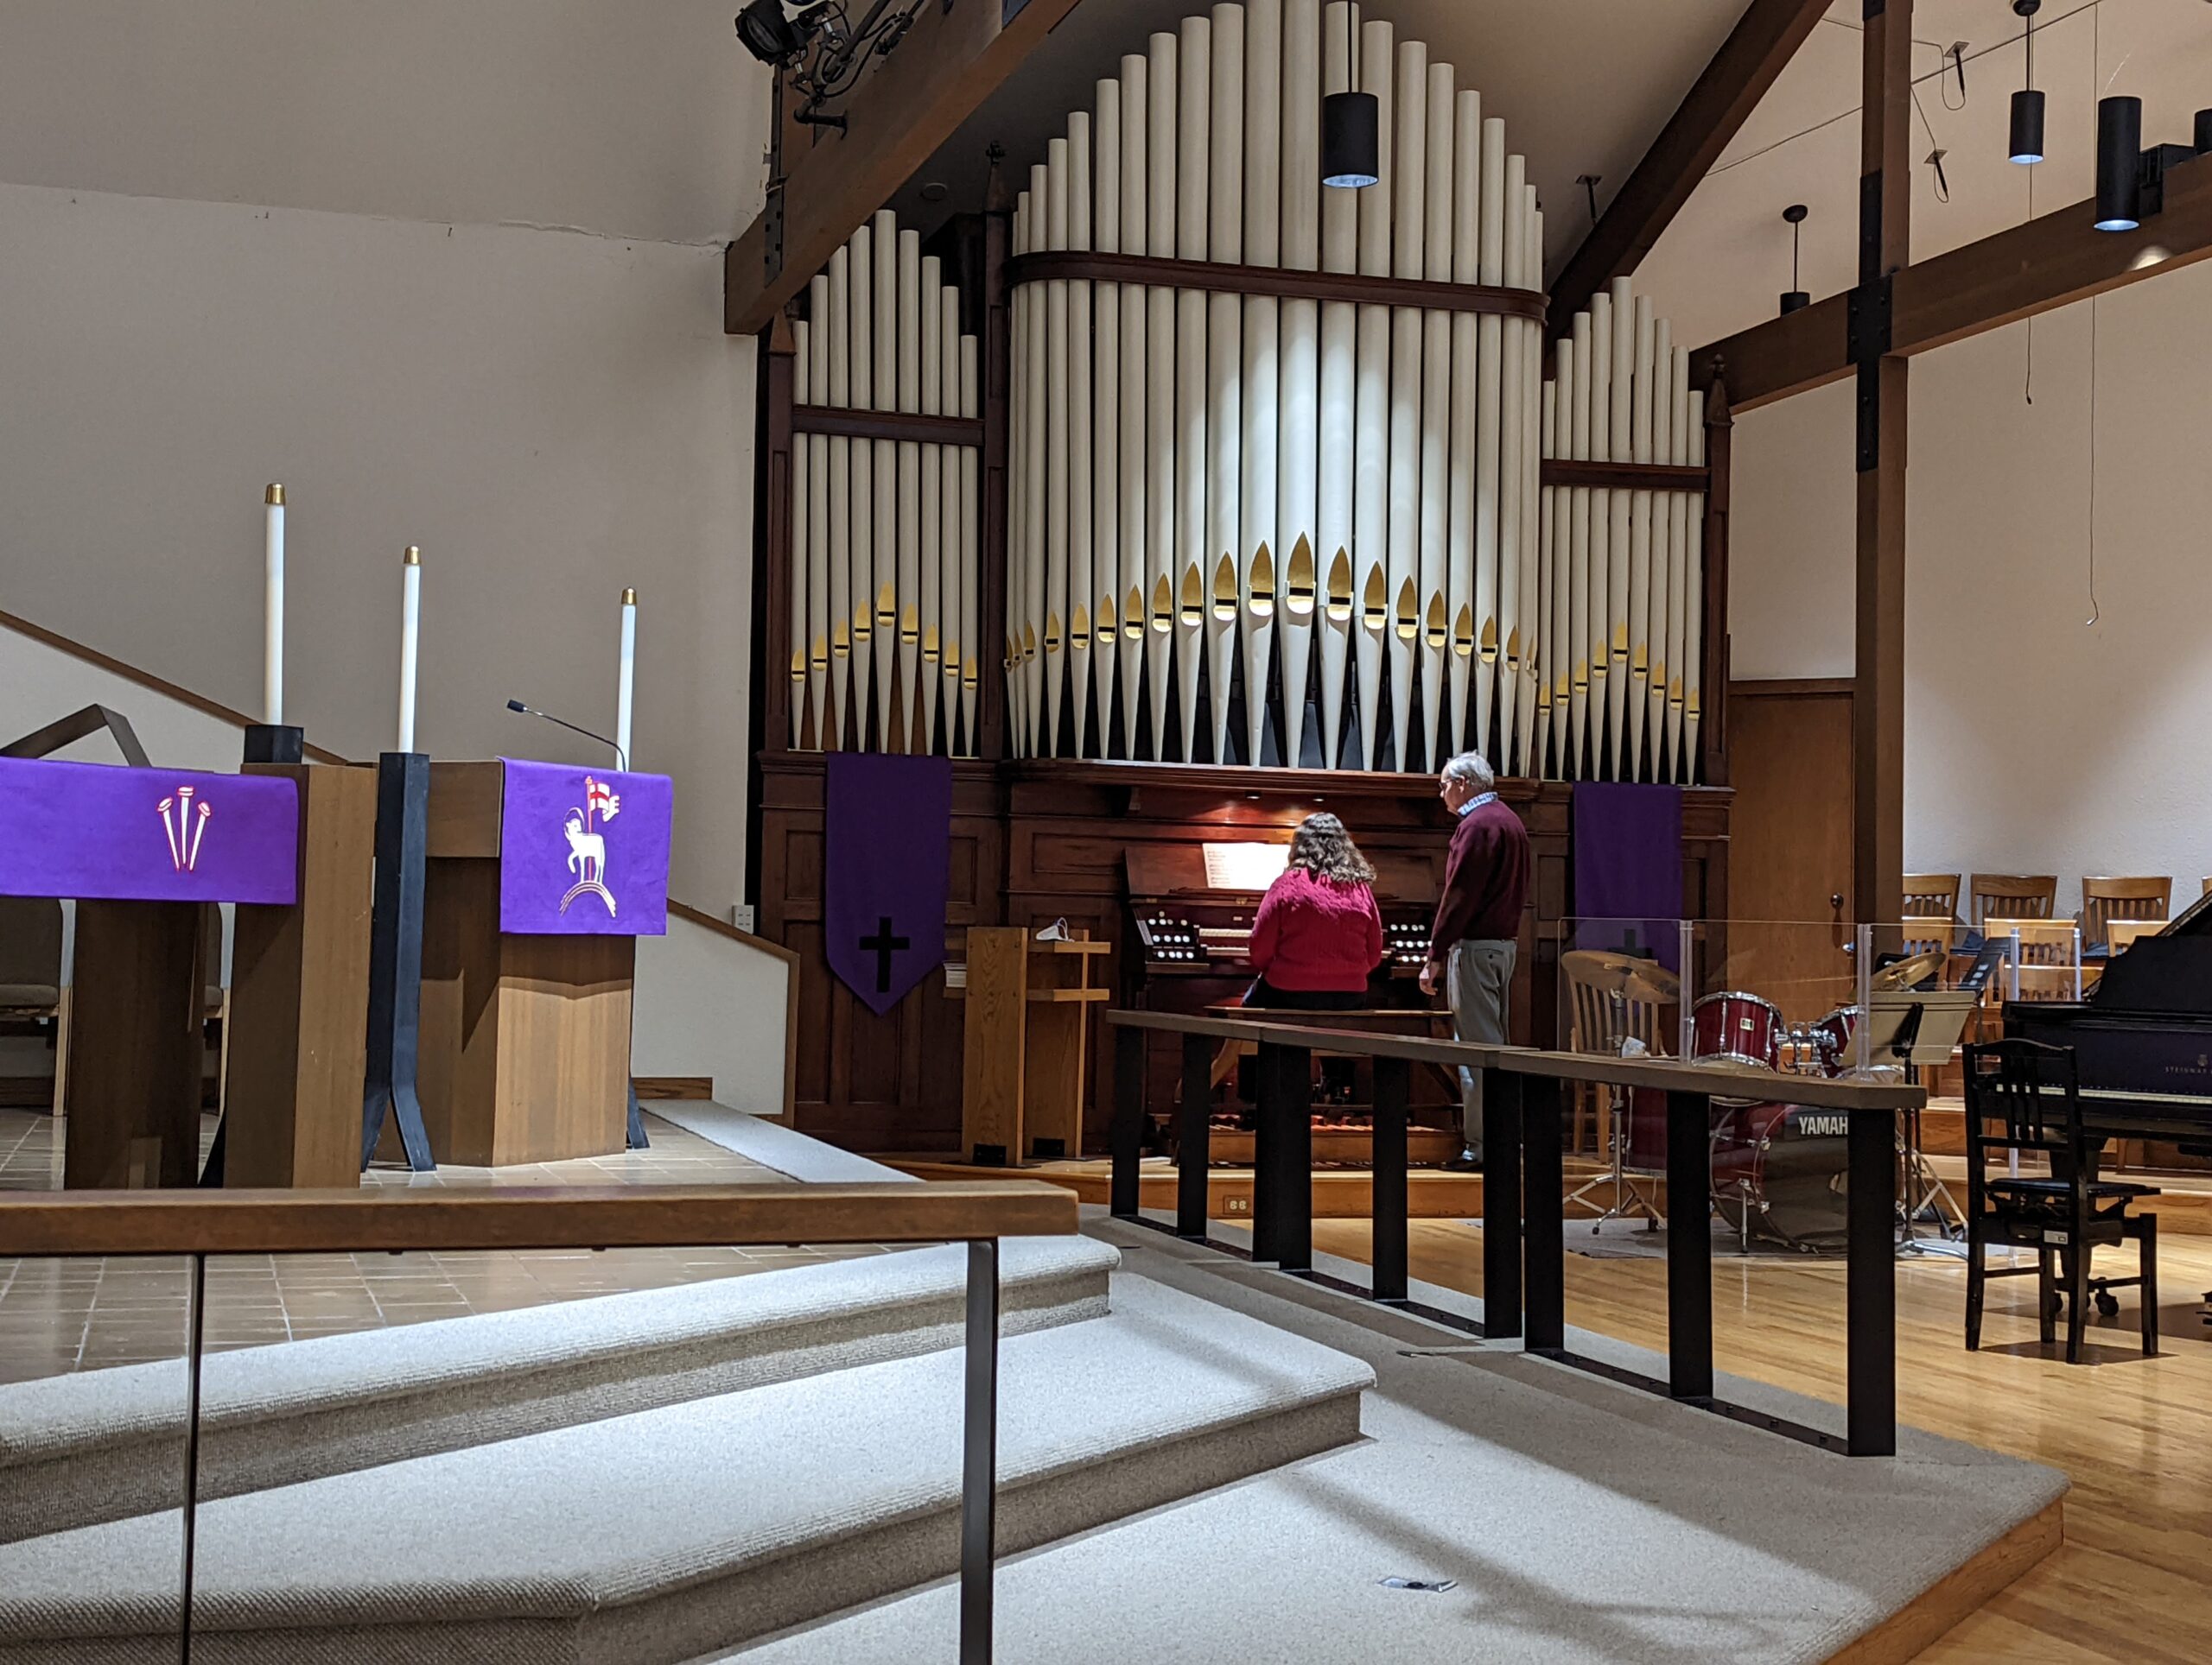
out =
[[376,769],[246,765],[299,783],[299,900],[239,907],[226,1185],[354,1185],[367,1072]]

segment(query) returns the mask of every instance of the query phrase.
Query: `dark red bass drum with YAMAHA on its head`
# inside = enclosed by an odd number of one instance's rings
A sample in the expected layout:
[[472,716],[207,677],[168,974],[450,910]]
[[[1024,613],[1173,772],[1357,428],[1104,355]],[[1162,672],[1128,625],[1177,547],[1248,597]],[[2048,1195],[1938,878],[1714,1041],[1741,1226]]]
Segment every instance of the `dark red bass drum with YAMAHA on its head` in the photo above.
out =
[[1849,1234],[1843,1110],[1714,1103],[1712,1203],[1741,1243],[1840,1254]]

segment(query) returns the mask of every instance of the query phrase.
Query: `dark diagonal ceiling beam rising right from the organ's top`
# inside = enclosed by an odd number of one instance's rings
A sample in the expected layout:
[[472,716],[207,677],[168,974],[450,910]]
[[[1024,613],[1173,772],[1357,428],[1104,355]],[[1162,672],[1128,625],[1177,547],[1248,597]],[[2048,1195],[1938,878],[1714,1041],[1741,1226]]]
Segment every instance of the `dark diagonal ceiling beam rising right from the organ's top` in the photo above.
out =
[[1827,0],[1752,0],[1743,9],[1628,184],[1559,270],[1551,285],[1553,338],[1566,334],[1593,294],[1644,263],[1823,11]]

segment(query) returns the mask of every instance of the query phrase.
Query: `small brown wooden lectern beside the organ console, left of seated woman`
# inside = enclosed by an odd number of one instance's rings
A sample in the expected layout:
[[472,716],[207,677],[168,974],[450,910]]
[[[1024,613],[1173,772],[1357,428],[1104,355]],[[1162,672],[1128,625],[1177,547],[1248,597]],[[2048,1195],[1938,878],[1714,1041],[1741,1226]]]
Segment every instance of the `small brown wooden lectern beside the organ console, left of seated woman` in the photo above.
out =
[[960,1148],[987,1167],[1082,1156],[1091,1006],[1108,997],[1091,962],[1108,944],[978,924],[967,953]]

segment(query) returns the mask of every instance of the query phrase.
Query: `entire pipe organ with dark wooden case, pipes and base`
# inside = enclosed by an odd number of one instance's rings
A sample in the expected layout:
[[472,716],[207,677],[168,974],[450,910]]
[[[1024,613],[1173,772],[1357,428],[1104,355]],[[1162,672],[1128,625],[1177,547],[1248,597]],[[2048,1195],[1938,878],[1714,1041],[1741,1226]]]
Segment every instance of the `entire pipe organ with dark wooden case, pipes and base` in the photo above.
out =
[[958,1150],[962,1006],[830,973],[827,750],[951,758],[949,964],[1064,918],[1126,1004],[1241,995],[1256,896],[1203,845],[1321,807],[1418,1002],[1464,745],[1533,840],[1517,1041],[1559,1035],[1571,781],[1683,785],[1683,911],[1728,915],[1725,389],[1626,281],[1546,327],[1526,164],[1418,42],[1356,62],[1422,166],[1327,192],[1343,9],[1192,13],[991,212],[876,214],[761,338],[748,887],[801,955],[796,1123],[849,1148]]

